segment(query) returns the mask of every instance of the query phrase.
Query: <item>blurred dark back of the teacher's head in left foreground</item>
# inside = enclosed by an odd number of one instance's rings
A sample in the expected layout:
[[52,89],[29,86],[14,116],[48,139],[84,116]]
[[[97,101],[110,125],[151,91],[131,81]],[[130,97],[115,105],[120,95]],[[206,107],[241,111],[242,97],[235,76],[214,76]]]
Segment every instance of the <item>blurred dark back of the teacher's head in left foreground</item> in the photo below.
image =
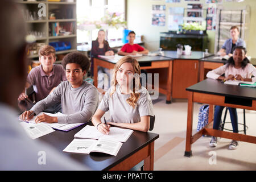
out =
[[22,7],[0,1],[0,102],[16,105],[27,77],[26,27]]

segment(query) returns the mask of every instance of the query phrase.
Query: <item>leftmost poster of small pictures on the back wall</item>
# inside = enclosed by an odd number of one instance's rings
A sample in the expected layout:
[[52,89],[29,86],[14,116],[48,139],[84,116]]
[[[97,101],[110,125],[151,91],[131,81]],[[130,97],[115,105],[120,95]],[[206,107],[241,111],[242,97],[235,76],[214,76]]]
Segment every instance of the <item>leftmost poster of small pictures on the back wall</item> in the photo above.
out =
[[152,5],[152,25],[166,25],[166,5]]

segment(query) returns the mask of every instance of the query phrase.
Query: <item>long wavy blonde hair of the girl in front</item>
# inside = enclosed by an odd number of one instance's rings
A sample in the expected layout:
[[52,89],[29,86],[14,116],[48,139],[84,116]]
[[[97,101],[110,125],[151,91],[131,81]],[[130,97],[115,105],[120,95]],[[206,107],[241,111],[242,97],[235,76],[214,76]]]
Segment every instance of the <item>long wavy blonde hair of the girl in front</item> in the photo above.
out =
[[137,102],[139,100],[140,94],[138,93],[138,90],[141,89],[141,82],[139,81],[139,75],[141,75],[141,67],[139,67],[139,63],[134,57],[131,56],[123,56],[116,64],[114,67],[114,75],[112,77],[111,85],[112,85],[112,90],[110,91],[110,96],[112,96],[115,92],[115,87],[118,84],[117,82],[117,71],[119,67],[123,63],[131,63],[133,66],[134,74],[135,77],[133,78],[133,90],[131,90],[130,97],[127,98],[126,102],[135,108],[137,106]]

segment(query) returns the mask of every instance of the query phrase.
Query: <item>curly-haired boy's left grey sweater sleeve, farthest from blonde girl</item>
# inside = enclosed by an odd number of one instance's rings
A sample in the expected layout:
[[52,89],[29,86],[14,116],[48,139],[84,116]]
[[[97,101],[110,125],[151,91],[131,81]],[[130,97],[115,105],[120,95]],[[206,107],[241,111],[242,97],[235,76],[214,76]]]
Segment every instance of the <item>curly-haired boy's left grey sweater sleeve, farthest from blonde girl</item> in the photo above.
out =
[[49,94],[43,100],[37,102],[31,110],[34,111],[35,114],[39,114],[43,110],[45,110],[48,106],[52,106],[54,104],[60,103],[61,101],[61,87],[63,84],[59,84],[51,94]]

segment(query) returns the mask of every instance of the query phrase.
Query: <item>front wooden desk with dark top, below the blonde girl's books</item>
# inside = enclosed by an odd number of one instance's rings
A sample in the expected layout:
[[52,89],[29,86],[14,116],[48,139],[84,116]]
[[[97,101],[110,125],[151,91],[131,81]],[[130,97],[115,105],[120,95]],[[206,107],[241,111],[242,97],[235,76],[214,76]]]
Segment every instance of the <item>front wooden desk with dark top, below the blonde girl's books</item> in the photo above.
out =
[[83,127],[85,125],[68,132],[56,130],[38,139],[56,148],[60,155],[75,159],[92,170],[129,170],[142,160],[144,160],[144,170],[154,169],[154,141],[159,138],[159,134],[134,131],[131,137],[122,144],[117,156],[100,152],[91,154],[63,152],[64,148],[74,139],[74,135]]

